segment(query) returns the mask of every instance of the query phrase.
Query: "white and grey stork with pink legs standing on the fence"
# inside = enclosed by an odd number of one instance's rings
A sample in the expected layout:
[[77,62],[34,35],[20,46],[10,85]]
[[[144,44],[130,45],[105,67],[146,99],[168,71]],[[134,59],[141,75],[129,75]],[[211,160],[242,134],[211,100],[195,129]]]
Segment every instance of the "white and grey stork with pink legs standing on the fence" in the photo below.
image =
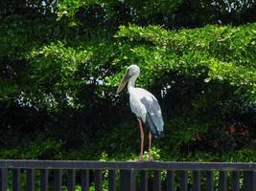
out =
[[137,117],[140,127],[140,161],[144,161],[144,127],[149,130],[149,158],[151,161],[151,138],[159,138],[164,135],[164,121],[160,105],[150,92],[143,88],[135,87],[135,81],[140,74],[140,68],[132,64],[128,66],[126,74],[123,76],[118,89],[119,94],[128,83],[129,106],[133,114]]

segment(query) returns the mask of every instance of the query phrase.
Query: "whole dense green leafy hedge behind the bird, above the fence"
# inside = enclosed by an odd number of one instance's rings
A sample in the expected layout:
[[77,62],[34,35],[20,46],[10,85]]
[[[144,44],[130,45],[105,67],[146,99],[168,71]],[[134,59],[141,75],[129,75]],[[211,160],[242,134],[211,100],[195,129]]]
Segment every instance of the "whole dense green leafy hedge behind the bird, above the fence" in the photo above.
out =
[[133,63],[163,110],[154,159],[255,159],[255,2],[241,2],[1,2],[0,157],[138,159],[115,94]]

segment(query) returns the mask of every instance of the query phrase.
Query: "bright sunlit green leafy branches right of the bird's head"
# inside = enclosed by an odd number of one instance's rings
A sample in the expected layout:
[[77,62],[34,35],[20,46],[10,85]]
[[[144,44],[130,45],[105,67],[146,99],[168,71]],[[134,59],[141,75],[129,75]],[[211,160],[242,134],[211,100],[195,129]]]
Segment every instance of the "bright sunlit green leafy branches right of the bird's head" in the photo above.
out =
[[[207,26],[174,33],[154,26],[141,28],[133,25],[121,27],[117,37],[138,42],[139,45],[130,51],[141,56],[144,65],[150,65],[151,69],[161,65],[171,72],[182,71],[183,74],[196,76],[208,72],[206,82],[217,79],[231,85],[245,86],[254,100],[255,30],[256,25],[251,24],[237,29]],[[140,45],[145,43],[146,46]],[[152,43],[152,46],[148,43]]]

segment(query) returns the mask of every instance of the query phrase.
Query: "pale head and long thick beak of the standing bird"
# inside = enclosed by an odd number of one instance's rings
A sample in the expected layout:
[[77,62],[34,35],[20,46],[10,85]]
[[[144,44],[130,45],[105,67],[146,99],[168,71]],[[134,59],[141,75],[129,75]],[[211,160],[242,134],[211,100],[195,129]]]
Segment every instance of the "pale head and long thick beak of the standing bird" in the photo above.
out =
[[125,88],[126,84],[128,83],[128,79],[130,77],[132,77],[132,76],[137,77],[139,74],[140,74],[140,68],[137,65],[132,64],[132,65],[128,66],[127,73],[122,78],[122,81],[119,84],[116,93],[117,94],[120,93]]

